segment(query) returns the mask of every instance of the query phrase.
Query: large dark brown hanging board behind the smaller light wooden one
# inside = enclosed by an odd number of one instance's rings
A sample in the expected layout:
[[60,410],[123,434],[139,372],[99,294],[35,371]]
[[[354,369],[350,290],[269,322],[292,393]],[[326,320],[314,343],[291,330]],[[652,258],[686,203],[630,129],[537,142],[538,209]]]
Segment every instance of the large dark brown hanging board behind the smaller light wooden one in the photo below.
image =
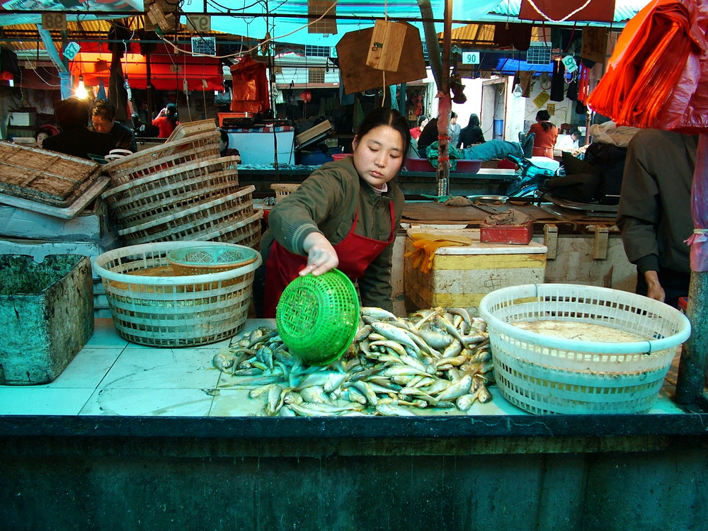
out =
[[[382,86],[397,85],[408,81],[426,78],[426,59],[423,57],[423,44],[418,28],[401,22],[406,26],[406,35],[396,71],[382,71],[367,66],[369,43],[374,35],[374,28],[345,33],[337,43],[337,57],[341,70],[342,83],[346,94],[379,89]],[[366,45],[362,45],[366,43]]]

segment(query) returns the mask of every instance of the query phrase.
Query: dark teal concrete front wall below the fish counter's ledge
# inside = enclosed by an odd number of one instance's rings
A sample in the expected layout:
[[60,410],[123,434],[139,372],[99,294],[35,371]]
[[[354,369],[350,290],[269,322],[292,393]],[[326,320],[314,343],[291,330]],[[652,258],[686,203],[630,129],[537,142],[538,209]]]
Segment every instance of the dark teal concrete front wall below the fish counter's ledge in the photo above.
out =
[[[592,439],[518,439],[509,451],[479,438],[7,438],[0,521],[62,531],[708,529],[704,444]],[[542,452],[540,440],[577,451]]]

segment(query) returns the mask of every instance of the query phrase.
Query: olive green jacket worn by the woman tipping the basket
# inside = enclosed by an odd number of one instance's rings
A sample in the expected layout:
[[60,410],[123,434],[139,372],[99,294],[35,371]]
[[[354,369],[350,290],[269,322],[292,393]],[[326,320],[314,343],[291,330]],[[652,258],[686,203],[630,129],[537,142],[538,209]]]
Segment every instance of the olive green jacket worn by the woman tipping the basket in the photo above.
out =
[[[404,205],[404,195],[398,185],[394,181],[388,185],[386,193],[376,193],[360,179],[350,156],[323,164],[270,211],[269,228],[261,239],[263,262],[268,260],[268,251],[274,239],[291,253],[303,256],[302,245],[311,232],[320,232],[332,245],[338,244],[349,234],[357,207],[359,219],[355,234],[387,241],[391,237],[389,203],[394,202],[396,229],[401,222]],[[392,253],[393,242],[375,258],[359,279],[359,292],[365,306],[393,309]]]

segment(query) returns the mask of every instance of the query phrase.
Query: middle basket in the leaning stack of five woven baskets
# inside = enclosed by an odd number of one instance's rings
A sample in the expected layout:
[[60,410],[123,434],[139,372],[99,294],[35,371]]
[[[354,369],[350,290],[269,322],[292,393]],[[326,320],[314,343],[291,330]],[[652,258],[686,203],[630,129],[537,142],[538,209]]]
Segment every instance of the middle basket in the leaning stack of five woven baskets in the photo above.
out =
[[103,199],[121,227],[127,228],[238,190],[236,157],[228,156],[136,178],[106,190]]

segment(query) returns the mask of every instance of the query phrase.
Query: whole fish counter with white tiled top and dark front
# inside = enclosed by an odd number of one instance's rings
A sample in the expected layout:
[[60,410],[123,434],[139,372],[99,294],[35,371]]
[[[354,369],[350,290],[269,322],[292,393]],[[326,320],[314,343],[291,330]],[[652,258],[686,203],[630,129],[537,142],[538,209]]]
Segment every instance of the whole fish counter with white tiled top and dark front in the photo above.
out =
[[673,404],[675,370],[643,415],[533,416],[492,388],[469,415],[234,416],[224,343],[147,348],[98,319],[55,382],[0,387],[4,526],[704,528],[708,413]]

